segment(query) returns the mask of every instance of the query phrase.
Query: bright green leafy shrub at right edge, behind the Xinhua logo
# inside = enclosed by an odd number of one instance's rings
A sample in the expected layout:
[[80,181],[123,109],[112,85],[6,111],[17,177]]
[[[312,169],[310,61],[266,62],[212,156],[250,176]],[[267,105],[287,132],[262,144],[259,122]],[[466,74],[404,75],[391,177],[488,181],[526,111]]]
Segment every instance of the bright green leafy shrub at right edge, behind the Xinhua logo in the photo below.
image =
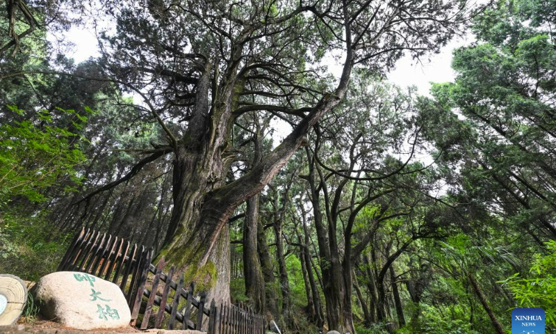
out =
[[503,280],[514,297],[518,307],[542,308],[546,322],[556,326],[556,241],[546,243],[546,254],[535,254],[529,269],[529,276],[519,273]]

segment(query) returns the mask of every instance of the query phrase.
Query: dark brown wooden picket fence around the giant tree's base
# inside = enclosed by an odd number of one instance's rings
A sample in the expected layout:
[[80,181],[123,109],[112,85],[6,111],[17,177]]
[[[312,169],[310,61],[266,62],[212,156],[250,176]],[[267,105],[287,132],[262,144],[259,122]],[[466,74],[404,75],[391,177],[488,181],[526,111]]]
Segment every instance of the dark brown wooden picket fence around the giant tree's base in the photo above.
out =
[[[57,271],[90,273],[119,285],[131,310],[131,325],[136,326],[140,320],[138,327],[141,329],[202,331],[206,321],[208,334],[265,333],[265,317],[252,310],[236,305],[217,306],[214,301],[206,308],[206,294],[195,299],[195,285],[184,286],[183,273],[176,283],[172,280],[175,267],[164,273],[164,257],[154,266],[152,253],[152,249],[144,246],[131,247],[124,239],[83,228],[76,233]],[[157,295],[159,289],[162,292]],[[155,305],[158,306],[156,314]],[[165,313],[170,317],[165,317]]]

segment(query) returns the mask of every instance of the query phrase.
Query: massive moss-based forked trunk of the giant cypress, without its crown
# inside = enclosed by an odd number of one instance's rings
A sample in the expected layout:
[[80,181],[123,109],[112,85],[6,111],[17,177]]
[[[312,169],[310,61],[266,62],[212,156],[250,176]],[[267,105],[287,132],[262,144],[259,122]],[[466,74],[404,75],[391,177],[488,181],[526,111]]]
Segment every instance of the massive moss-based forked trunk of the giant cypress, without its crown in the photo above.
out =
[[[349,35],[350,30],[346,31]],[[249,72],[238,71],[243,45],[231,49],[218,89],[212,92],[212,103],[209,102],[212,65],[206,61],[197,80],[195,107],[187,132],[180,140],[169,130],[166,132],[174,151],[174,207],[161,255],[183,271],[186,280],[195,280],[199,291],[208,291],[208,299],[215,299],[216,303],[229,301],[228,218],[242,202],[263,190],[304,143],[309,129],[340,103],[354,62],[353,50],[347,47],[343,72],[334,92],[323,96],[260,164],[238,180],[224,184],[234,159],[234,154],[227,152],[229,129],[234,122],[232,111],[236,110],[245,85],[241,76]],[[217,81],[216,75],[215,78]]]

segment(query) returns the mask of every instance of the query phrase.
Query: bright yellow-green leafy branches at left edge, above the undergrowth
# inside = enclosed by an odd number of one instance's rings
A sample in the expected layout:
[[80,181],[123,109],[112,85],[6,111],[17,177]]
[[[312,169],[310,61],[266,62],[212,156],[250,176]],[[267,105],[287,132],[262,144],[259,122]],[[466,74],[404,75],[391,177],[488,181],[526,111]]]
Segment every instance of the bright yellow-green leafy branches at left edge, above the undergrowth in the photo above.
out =
[[[9,108],[14,118],[24,115],[16,106]],[[64,191],[71,191],[81,182],[74,167],[85,161],[85,155],[79,150],[81,137],[75,131],[87,118],[63,109],[38,111],[35,116],[35,120],[0,126],[0,206],[15,196],[39,202],[46,199],[44,190],[49,186],[63,184]],[[58,127],[59,116],[69,118],[69,125]]]

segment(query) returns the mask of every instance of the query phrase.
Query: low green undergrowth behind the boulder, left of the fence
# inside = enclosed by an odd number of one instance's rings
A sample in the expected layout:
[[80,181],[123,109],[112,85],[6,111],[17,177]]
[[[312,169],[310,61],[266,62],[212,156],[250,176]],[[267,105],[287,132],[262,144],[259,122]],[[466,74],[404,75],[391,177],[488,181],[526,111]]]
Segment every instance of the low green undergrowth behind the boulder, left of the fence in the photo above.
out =
[[52,225],[43,215],[22,216],[17,210],[0,215],[0,272],[24,280],[56,271],[71,241],[71,235],[54,237]]

